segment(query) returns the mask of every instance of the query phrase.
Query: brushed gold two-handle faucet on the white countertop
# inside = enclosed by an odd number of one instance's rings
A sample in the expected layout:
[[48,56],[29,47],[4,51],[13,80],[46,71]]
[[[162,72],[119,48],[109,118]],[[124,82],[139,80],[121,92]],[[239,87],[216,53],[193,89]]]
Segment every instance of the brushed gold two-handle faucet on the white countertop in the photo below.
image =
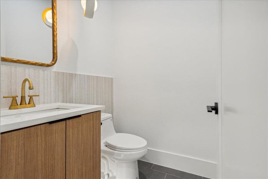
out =
[[25,100],[25,84],[27,81],[29,83],[29,90],[33,90],[32,81],[29,78],[25,78],[21,84],[21,102],[19,105],[16,100],[16,97],[18,97],[18,95],[3,97],[3,98],[12,98],[12,102],[10,104],[9,109],[21,109],[21,108],[27,108],[27,107],[35,107],[35,104],[33,102],[33,96],[39,96],[39,95],[28,95],[30,97],[28,104],[26,103],[26,100]]

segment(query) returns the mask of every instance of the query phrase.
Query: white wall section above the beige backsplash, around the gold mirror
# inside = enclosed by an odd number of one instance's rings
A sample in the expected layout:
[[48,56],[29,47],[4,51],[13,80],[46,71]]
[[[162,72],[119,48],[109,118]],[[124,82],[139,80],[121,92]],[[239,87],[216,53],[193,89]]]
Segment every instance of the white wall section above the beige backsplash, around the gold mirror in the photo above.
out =
[[[112,77],[112,20],[112,1],[98,1],[93,19],[83,16],[81,1],[57,1],[57,63],[52,67],[9,62],[1,64]],[[43,53],[41,51],[40,55]]]

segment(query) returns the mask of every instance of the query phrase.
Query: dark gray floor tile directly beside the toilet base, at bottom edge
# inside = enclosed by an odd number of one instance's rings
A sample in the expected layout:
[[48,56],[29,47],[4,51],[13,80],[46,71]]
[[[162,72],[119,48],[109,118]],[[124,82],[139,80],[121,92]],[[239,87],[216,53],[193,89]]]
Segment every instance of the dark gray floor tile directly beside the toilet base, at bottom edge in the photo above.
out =
[[143,166],[139,166],[139,179],[164,179],[166,174]]

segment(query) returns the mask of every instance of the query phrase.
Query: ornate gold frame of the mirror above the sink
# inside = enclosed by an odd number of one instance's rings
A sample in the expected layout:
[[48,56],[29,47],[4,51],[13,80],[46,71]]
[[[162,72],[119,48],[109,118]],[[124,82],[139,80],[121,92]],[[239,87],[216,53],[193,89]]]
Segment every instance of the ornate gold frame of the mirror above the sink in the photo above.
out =
[[57,51],[57,3],[56,0],[51,0],[52,2],[52,53],[53,59],[50,63],[41,63],[36,61],[28,61],[28,60],[21,60],[16,58],[8,58],[8,57],[1,57],[1,61],[8,61],[14,63],[22,63],[22,64],[29,64],[29,65],[38,65],[43,67],[51,67],[56,64],[58,59],[58,51]]

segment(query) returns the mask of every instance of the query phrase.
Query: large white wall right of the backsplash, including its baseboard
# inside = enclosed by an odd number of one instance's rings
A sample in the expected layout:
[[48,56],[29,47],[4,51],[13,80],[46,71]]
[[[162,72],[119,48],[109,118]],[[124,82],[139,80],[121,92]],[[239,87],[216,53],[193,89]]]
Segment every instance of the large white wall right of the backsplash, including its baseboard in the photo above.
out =
[[114,124],[144,160],[211,178],[218,161],[218,1],[115,1]]

